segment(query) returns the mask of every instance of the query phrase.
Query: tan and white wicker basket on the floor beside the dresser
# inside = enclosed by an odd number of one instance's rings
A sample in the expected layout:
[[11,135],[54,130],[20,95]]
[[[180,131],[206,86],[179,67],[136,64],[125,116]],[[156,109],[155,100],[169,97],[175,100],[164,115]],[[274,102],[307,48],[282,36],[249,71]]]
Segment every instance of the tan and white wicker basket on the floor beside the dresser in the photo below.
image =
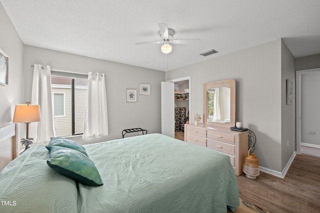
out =
[[250,153],[251,149],[249,149],[248,154],[244,156],[242,172],[244,172],[247,178],[255,179],[256,176],[260,175],[259,161],[255,157],[254,151],[253,153]]

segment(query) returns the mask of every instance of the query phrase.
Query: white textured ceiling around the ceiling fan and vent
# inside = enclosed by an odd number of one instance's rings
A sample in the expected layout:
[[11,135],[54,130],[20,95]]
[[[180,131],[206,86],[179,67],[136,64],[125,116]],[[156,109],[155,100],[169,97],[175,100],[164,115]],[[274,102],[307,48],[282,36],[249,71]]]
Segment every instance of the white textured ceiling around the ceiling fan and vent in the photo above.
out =
[[[320,53],[320,0],[0,0],[23,43],[165,70],[158,23],[174,39],[172,70],[283,38],[294,55]],[[218,53],[201,56],[215,49]],[[31,63],[31,62],[30,62]],[[54,65],[52,65],[54,66]]]

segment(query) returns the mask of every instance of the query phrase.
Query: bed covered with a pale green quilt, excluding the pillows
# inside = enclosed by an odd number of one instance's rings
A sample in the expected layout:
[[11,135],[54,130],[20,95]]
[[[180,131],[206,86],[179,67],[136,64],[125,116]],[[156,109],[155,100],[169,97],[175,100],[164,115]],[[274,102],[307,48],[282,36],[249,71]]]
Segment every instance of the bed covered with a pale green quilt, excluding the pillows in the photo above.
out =
[[0,172],[0,212],[223,213],[239,206],[228,156],[161,134],[84,145],[103,182],[87,186],[51,169],[44,145]]

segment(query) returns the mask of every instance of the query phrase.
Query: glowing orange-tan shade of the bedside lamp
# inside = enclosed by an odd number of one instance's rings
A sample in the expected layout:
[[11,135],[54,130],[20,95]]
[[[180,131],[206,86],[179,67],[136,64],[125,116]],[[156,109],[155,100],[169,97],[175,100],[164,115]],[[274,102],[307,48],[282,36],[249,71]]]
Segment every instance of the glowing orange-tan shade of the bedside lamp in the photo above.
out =
[[14,123],[31,123],[41,120],[40,106],[29,104],[15,105],[13,122]]

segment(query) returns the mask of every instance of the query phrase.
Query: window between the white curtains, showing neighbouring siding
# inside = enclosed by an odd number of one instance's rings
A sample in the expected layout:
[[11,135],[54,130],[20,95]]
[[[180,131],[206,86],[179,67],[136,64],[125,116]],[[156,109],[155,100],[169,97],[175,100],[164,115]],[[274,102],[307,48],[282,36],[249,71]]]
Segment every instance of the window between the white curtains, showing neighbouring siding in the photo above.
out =
[[83,134],[87,79],[51,76],[51,89],[58,137]]

